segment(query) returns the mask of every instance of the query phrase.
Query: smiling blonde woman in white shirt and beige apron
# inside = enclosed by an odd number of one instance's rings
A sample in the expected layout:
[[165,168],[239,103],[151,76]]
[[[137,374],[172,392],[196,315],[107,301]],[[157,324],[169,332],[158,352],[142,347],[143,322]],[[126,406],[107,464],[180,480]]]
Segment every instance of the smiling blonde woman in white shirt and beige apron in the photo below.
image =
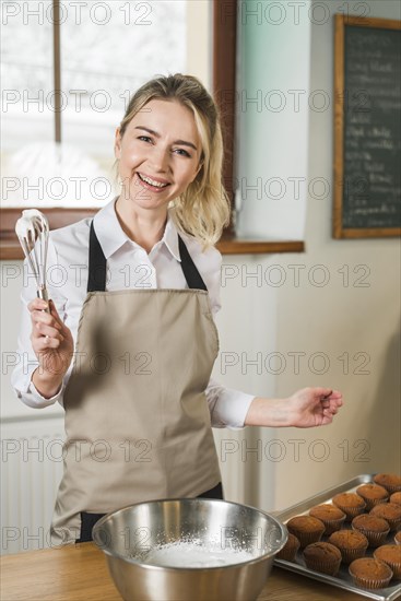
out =
[[93,220],[51,232],[49,313],[33,285],[22,293],[19,350],[30,361],[13,386],[31,406],[58,401],[66,411],[58,543],[91,540],[102,515],[132,503],[222,498],[211,425],[323,425],[342,404],[328,388],[263,399],[210,379],[213,243],[229,207],[219,115],[202,84],[181,74],[144,84],[115,154],[119,196]]

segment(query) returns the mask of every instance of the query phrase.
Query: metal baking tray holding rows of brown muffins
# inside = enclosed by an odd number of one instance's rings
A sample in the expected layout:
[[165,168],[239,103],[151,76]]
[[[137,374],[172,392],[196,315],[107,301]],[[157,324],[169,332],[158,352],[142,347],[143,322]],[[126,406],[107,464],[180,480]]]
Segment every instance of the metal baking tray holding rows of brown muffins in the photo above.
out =
[[[356,488],[361,486],[361,484],[373,482],[374,475],[375,474],[361,474],[350,480],[349,482],[344,482],[339,486],[328,488],[327,491],[311,496],[306,500],[303,500],[302,503],[297,503],[296,505],[284,509],[284,511],[274,511],[274,517],[285,523],[290,518],[293,518],[294,516],[308,514],[309,509],[315,505],[320,505],[321,503],[330,503],[332,497],[339,493],[354,493]],[[351,528],[349,522],[345,523],[345,528]],[[390,532],[388,539],[384,544],[393,544],[393,537],[394,532]],[[321,540],[326,541],[327,538],[323,537]],[[373,551],[374,550],[368,547],[366,556],[371,556]],[[401,580],[394,580],[396,585],[392,585],[391,587],[386,587],[385,589],[363,589],[354,585],[354,581],[349,574],[349,566],[345,566],[344,564],[341,564],[340,571],[338,576],[334,577],[327,574],[320,574],[318,571],[314,571],[312,569],[307,568],[300,552],[296,554],[295,561],[296,563],[292,563],[285,562],[284,559],[275,558],[274,565],[283,569],[307,576],[308,578],[312,578],[314,580],[327,582],[328,585],[350,590],[357,594],[362,594],[363,597],[368,597],[369,599],[377,599],[379,601],[393,601],[394,599],[399,599],[401,597]]]

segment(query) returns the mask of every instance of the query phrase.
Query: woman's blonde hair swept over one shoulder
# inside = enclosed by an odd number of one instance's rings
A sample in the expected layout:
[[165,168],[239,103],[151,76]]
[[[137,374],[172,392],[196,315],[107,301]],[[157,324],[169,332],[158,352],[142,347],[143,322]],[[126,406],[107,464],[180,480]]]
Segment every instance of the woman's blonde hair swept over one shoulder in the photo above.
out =
[[202,143],[201,168],[186,191],[174,200],[172,216],[182,232],[197,238],[203,248],[215,244],[229,221],[229,200],[222,179],[223,138],[217,107],[193,75],[157,76],[131,97],[120,123],[128,123],[152,99],[177,101],[193,113]]

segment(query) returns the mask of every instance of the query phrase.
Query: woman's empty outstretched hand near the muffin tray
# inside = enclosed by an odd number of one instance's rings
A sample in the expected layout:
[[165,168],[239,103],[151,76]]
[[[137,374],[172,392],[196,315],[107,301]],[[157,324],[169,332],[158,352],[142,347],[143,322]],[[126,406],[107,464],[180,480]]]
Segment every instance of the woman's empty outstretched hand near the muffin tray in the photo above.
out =
[[303,388],[288,399],[291,425],[295,427],[331,424],[342,405],[342,394],[330,388]]

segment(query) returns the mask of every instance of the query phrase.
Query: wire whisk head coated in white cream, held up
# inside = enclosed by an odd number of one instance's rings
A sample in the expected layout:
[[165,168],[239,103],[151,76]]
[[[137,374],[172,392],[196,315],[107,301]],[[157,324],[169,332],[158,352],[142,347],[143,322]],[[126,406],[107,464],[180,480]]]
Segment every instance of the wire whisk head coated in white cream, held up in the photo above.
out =
[[15,224],[15,233],[35,276],[37,296],[47,302],[46,262],[49,239],[47,217],[37,209],[26,209]]

